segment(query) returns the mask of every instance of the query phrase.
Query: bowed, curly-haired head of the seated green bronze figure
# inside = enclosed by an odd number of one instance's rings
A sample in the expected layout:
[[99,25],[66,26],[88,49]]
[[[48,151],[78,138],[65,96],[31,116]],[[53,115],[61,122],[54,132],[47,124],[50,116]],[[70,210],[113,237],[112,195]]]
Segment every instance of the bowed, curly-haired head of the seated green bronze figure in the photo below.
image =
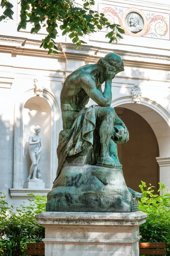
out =
[[108,75],[114,78],[117,73],[124,71],[123,61],[116,53],[108,53],[105,58],[100,58],[97,64],[103,68],[104,81]]

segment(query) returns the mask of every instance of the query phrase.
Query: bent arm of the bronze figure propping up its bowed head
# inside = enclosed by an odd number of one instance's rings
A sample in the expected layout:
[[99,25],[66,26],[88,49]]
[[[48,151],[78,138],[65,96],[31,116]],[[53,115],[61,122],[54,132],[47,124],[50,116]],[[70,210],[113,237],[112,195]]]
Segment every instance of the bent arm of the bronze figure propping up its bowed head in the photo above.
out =
[[[88,96],[101,107],[109,107],[111,105],[111,85],[105,82],[105,90],[102,93],[96,88],[94,80],[85,76],[82,78],[82,88]],[[109,88],[110,87],[110,88]]]

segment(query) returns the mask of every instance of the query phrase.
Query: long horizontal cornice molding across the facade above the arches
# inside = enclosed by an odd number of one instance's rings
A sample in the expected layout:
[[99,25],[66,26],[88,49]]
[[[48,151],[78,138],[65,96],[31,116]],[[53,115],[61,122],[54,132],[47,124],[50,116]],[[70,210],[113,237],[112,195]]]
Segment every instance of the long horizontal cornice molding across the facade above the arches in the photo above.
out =
[[[105,56],[113,49],[105,49],[90,45],[77,46],[71,43],[59,43],[59,54],[48,55],[48,50],[40,49],[41,41],[27,38],[7,37],[0,35],[0,52],[8,52],[14,57],[15,55],[29,55],[43,58],[57,59],[77,59],[86,62],[96,62],[99,58]],[[34,48],[30,48],[33,46]],[[120,55],[127,67],[140,67],[157,70],[170,70],[170,56],[145,54],[141,52],[130,52],[123,50],[114,50]]]

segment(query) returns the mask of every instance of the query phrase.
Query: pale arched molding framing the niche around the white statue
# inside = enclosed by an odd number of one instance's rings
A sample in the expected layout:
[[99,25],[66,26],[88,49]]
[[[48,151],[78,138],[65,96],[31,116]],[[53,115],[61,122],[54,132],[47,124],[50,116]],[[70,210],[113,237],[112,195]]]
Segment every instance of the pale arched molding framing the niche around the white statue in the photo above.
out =
[[[13,188],[23,188],[23,108],[26,102],[35,96],[34,89],[28,90],[20,97],[15,104],[14,112],[14,178]],[[50,187],[56,177],[57,170],[57,143],[59,134],[59,106],[53,93],[43,90],[40,96],[45,99],[51,108],[51,156],[50,156]]]

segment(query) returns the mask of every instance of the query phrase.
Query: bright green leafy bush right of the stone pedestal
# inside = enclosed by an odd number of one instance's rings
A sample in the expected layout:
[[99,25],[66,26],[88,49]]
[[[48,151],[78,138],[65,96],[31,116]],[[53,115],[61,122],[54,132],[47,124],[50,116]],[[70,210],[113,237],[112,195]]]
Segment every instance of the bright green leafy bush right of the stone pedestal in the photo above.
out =
[[148,214],[147,221],[140,227],[140,242],[166,243],[167,256],[170,256],[170,191],[164,191],[165,185],[159,183],[161,195],[154,194],[154,186],[147,188],[142,181],[139,185],[143,198],[139,210]]

